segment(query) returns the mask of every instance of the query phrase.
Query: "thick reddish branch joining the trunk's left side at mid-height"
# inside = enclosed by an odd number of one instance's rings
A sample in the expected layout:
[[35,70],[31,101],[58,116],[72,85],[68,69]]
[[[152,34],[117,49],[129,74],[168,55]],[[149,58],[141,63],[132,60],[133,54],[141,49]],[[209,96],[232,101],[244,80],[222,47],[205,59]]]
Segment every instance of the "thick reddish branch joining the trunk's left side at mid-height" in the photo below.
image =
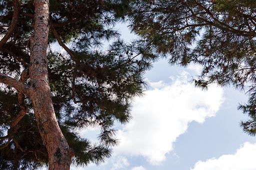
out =
[[14,78],[0,73],[0,82],[15,88],[17,91],[20,91],[27,96],[30,96],[29,87]]

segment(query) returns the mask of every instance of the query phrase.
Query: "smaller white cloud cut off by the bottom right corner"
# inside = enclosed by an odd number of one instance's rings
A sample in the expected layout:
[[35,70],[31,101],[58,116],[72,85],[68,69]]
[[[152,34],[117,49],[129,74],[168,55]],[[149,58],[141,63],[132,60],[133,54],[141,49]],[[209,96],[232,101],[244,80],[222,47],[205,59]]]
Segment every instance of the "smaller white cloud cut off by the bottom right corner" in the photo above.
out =
[[244,143],[233,155],[198,161],[190,170],[256,170],[256,143]]

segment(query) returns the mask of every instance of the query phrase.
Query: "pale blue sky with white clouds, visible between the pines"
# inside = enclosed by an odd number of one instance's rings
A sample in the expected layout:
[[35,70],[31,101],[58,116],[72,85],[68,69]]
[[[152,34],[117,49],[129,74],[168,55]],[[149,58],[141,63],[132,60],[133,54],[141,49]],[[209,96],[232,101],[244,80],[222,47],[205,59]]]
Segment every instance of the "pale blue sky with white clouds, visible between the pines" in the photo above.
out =
[[[123,25],[120,31],[126,40],[134,37]],[[246,116],[237,111],[247,96],[232,87],[195,88],[191,79],[199,72],[197,65],[154,63],[145,74],[149,89],[133,102],[132,120],[116,124],[120,143],[112,157],[71,170],[256,170],[256,138],[242,132]],[[97,134],[81,132],[92,141]]]

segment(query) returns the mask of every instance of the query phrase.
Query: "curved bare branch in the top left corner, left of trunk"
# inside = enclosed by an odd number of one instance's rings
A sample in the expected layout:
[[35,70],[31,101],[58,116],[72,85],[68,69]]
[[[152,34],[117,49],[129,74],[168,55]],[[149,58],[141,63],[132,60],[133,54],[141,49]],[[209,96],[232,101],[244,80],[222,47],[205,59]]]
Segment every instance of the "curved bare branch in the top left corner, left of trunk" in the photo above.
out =
[[14,11],[13,11],[10,27],[9,27],[7,33],[4,35],[4,37],[0,40],[0,48],[10,38],[11,34],[14,32],[15,27],[18,23],[18,13],[19,13],[19,2],[18,2],[18,0],[13,0],[13,6],[14,6],[14,9],[13,9]]

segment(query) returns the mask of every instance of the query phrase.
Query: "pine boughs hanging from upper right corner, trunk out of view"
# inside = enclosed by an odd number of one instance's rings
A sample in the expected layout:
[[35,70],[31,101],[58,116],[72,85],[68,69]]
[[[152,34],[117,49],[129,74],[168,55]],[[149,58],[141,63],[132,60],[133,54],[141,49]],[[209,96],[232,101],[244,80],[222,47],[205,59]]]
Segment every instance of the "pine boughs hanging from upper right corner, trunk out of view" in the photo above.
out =
[[195,86],[216,83],[247,92],[248,103],[238,109],[249,119],[240,125],[255,136],[255,1],[137,0],[132,7],[130,28],[144,45],[171,65],[203,67]]

